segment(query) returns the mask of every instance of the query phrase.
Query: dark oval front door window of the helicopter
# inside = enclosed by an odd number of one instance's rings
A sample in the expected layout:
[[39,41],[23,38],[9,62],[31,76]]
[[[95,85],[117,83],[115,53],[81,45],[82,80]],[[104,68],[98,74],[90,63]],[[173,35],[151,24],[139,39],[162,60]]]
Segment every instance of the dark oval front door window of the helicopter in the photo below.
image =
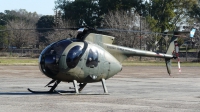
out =
[[67,54],[66,63],[69,68],[74,68],[78,64],[81,56],[83,55],[81,46],[74,46]]

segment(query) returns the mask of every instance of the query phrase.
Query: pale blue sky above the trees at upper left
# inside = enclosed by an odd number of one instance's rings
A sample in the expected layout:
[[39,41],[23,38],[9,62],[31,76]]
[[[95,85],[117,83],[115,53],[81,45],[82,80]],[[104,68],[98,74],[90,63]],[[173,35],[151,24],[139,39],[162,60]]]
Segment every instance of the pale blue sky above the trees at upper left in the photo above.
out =
[[56,0],[0,0],[0,12],[26,9],[41,15],[54,15]]

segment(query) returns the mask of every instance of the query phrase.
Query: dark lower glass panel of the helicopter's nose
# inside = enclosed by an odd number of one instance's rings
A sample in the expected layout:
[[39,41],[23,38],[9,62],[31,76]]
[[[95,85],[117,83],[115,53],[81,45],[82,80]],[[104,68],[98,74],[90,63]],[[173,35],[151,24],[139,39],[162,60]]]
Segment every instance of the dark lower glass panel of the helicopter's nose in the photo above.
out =
[[40,70],[48,77],[54,77],[59,72],[58,60],[56,55],[40,55]]

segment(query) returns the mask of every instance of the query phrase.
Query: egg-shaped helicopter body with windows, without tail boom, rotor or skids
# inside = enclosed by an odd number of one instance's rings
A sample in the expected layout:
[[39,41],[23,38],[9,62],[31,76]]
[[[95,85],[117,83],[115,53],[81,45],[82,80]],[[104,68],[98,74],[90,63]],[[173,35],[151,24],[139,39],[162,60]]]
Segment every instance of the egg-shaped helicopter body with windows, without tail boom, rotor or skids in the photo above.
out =
[[122,70],[120,62],[101,46],[65,39],[47,46],[39,58],[46,76],[65,82],[98,82]]

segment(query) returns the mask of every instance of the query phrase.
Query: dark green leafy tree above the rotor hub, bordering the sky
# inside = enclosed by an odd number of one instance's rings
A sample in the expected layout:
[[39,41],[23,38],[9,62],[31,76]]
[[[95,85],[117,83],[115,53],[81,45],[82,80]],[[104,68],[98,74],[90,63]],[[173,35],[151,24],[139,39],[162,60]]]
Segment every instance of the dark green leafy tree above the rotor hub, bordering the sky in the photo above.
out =
[[66,21],[75,21],[76,26],[100,26],[97,0],[57,0],[56,9],[63,12]]

